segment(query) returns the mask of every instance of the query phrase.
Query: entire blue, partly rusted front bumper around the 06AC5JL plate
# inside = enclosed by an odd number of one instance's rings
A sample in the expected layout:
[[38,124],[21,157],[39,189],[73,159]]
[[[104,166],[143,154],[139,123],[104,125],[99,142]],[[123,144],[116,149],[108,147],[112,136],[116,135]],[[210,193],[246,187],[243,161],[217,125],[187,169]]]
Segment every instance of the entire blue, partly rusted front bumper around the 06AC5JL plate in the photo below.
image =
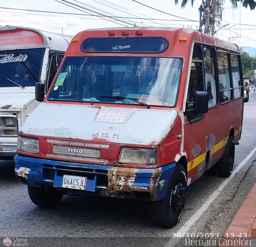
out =
[[[54,186],[70,194],[95,194],[138,200],[160,200],[169,188],[175,163],[160,168],[127,168],[14,157],[17,178],[30,186]],[[62,188],[63,175],[87,177],[84,191]]]

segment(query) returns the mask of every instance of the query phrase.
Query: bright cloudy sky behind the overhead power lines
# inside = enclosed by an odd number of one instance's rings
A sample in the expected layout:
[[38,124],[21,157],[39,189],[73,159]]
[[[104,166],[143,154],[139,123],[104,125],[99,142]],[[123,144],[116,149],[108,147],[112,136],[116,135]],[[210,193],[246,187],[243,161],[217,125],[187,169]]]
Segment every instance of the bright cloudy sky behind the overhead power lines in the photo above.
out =
[[[64,1],[93,10],[94,13]],[[134,24],[136,26],[198,29],[199,22],[188,21],[184,18],[199,21],[198,8],[201,1],[195,0],[193,7],[188,1],[184,9],[180,8],[181,1],[176,6],[174,0],[137,0],[137,2],[134,0],[0,0],[0,26],[23,26],[70,36],[90,28],[121,28],[124,26],[132,27]],[[238,3],[237,9],[233,9],[229,0],[223,0],[223,2],[222,20],[220,20],[218,26],[229,25],[221,29],[216,27],[216,30],[219,30],[215,36],[239,46],[256,47],[256,10],[250,10],[249,7],[246,9],[240,3]],[[142,4],[168,14],[153,10]],[[102,11],[105,12],[104,15],[126,18],[121,19],[123,22],[117,22],[116,18],[103,17],[103,19],[91,16],[92,14],[98,15],[95,12],[102,13]],[[130,19],[127,17],[164,20]]]

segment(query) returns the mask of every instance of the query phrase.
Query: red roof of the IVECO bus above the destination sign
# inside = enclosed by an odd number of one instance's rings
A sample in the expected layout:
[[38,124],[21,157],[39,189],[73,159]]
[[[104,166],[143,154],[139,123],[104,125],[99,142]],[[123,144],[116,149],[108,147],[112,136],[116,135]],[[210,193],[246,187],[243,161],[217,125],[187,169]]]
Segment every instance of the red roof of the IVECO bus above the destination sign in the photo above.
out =
[[[114,35],[111,36],[108,34],[108,32],[114,31]],[[148,36],[161,36],[168,39],[170,44],[177,44],[179,41],[179,38],[187,38],[189,44],[191,44],[194,41],[206,43],[209,45],[215,45],[218,47],[230,49],[233,51],[240,51],[240,48],[238,45],[234,43],[230,43],[228,41],[221,40],[219,38],[210,36],[208,34],[204,34],[202,32],[199,32],[198,30],[194,29],[188,29],[188,28],[102,28],[102,29],[89,29],[84,30],[78,34],[74,38],[80,39],[80,41],[89,38],[89,37],[122,37],[122,32],[128,31],[129,34],[126,37],[135,37],[136,31],[142,31],[143,34],[139,35],[140,37],[148,37]]]

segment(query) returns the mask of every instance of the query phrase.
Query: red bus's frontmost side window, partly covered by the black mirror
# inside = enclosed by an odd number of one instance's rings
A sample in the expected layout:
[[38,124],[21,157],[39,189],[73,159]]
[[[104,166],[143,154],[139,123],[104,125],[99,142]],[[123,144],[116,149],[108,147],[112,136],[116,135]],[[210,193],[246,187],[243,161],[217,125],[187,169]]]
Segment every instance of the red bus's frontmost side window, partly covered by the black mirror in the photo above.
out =
[[203,117],[203,114],[195,113],[193,109],[195,91],[205,91],[203,61],[202,61],[202,47],[199,44],[194,45],[189,84],[188,84],[187,115],[188,115],[188,120],[190,122],[194,122]]

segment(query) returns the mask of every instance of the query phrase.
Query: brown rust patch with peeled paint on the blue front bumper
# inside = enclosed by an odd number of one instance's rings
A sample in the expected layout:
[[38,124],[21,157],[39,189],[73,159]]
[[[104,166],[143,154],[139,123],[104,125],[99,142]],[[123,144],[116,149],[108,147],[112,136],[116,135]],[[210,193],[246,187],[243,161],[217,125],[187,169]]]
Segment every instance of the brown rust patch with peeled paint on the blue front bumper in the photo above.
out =
[[102,196],[121,197],[125,195],[118,192],[149,192],[150,200],[156,200],[156,187],[162,174],[162,168],[156,168],[151,171],[150,186],[134,186],[135,178],[140,173],[140,168],[114,167],[108,170],[108,187],[102,190]]

